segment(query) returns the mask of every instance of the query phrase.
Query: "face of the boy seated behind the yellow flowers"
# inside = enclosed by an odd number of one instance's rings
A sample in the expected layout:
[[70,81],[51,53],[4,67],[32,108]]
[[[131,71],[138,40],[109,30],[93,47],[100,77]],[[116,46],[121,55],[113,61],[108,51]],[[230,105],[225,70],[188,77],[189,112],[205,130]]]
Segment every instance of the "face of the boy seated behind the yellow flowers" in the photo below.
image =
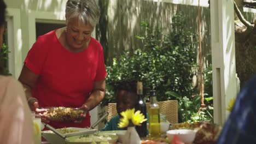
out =
[[125,90],[118,90],[117,91],[117,112],[118,115],[122,111],[125,111],[127,109],[132,109],[135,107],[136,101],[137,101],[137,94],[132,92],[127,92]]

